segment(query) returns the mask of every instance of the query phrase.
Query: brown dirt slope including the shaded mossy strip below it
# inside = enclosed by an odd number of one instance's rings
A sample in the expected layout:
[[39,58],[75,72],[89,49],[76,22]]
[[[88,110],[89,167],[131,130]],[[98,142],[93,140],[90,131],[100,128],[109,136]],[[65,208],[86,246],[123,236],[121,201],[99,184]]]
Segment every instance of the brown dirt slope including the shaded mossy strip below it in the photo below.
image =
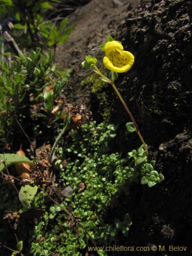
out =
[[[83,70],[81,62],[84,61],[87,54],[93,53],[91,51],[92,48],[98,47],[105,42],[105,38],[108,35],[115,38],[123,18],[138,3],[139,0],[92,0],[69,15],[68,24],[76,23],[76,27],[71,32],[65,45],[58,46],[56,49],[58,65],[65,69],[73,68],[67,92],[68,99],[72,98],[76,103],[83,103],[92,108],[93,100],[90,100],[92,98],[90,96],[90,84],[83,89],[83,92],[80,84],[82,80],[93,72]],[[97,58],[99,59],[99,54]],[[96,102],[94,102],[95,104]]]

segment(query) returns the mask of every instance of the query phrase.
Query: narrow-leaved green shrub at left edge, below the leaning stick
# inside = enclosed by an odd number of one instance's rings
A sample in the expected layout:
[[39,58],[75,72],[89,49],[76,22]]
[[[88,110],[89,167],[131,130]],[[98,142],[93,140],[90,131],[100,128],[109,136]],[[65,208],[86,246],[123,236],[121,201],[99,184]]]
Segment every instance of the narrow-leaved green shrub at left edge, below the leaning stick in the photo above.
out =
[[[15,117],[31,131],[35,131],[35,121],[39,123],[39,119],[43,120],[41,126],[49,125],[55,100],[70,76],[70,71],[61,73],[56,70],[52,61],[53,55],[42,54],[36,49],[20,55],[10,66],[5,61],[0,64],[0,136],[3,143],[18,130],[15,129],[18,127]],[[44,93],[47,86],[53,90]],[[55,116],[53,121],[58,118]]]

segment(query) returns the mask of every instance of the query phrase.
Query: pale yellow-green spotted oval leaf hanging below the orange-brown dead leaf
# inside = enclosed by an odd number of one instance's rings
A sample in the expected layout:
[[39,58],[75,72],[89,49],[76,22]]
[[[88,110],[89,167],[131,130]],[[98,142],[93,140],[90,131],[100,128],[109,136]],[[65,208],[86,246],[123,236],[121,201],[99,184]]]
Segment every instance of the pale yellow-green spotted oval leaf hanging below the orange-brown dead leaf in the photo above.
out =
[[18,198],[22,203],[23,207],[29,208],[35,194],[37,193],[38,186],[25,185],[20,188]]

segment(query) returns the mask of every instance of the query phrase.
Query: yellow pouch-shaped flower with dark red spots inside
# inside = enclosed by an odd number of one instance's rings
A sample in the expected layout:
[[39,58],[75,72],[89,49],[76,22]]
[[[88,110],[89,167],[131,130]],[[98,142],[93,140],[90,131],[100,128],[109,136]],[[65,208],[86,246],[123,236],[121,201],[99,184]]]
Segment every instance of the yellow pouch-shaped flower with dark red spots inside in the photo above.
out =
[[104,51],[103,64],[107,69],[117,73],[123,73],[130,70],[133,66],[133,54],[123,51],[123,46],[118,41],[106,42]]

